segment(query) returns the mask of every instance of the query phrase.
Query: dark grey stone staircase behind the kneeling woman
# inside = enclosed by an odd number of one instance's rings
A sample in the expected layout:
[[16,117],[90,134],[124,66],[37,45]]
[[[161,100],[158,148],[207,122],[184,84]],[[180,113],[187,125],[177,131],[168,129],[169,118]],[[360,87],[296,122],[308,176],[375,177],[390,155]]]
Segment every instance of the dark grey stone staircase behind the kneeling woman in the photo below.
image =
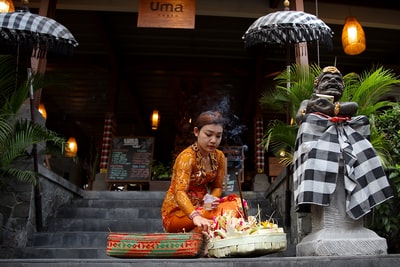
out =
[[[62,206],[46,229],[33,235],[31,245],[13,249],[12,258],[106,259],[109,232],[163,232],[161,191],[85,191],[84,197]],[[256,214],[266,213],[262,194],[244,196]],[[267,214],[271,214],[268,212]],[[1,256],[0,256],[1,258]]]

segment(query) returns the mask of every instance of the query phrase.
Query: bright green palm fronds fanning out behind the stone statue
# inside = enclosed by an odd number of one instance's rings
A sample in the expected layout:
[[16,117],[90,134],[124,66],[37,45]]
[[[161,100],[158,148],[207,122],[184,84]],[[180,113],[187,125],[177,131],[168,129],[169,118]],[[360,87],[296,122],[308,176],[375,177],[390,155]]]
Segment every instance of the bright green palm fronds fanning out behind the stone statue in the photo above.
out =
[[[292,164],[294,153],[298,129],[294,118],[302,100],[310,99],[313,94],[314,78],[321,71],[322,69],[317,65],[303,67],[293,64],[275,77],[275,88],[265,91],[259,100],[263,108],[286,110],[287,122],[271,121],[261,142],[267,151],[280,157],[281,163],[286,166]],[[392,71],[385,70],[383,67],[373,68],[361,75],[349,73],[344,75],[343,79],[346,87],[341,100],[357,102],[358,114],[371,119],[379,109],[390,107],[393,104],[389,101],[382,101],[382,96],[390,91],[393,85],[400,83]],[[371,125],[371,143],[378,151],[384,165],[388,165],[390,164],[388,162],[390,153],[387,140],[373,127],[373,120]],[[285,153],[282,154],[282,151]]]

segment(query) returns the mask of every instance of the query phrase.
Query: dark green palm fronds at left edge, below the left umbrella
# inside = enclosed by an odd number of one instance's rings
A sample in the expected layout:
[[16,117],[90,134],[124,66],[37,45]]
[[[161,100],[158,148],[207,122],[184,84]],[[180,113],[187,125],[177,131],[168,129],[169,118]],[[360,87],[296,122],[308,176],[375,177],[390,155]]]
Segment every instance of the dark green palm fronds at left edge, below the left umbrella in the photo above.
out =
[[19,168],[18,162],[31,158],[29,150],[39,143],[50,142],[62,150],[65,139],[42,125],[18,118],[29,91],[42,88],[43,80],[38,75],[23,78],[16,69],[12,56],[0,55],[0,184],[10,177],[36,184],[36,173]]

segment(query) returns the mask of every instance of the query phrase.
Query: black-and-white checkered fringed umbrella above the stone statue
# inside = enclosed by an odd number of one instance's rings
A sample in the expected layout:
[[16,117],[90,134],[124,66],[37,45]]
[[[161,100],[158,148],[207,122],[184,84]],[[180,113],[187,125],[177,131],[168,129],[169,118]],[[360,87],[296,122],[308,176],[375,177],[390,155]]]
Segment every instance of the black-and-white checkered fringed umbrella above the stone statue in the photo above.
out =
[[332,47],[333,32],[320,19],[302,11],[277,11],[258,18],[243,35],[245,47],[319,41]]

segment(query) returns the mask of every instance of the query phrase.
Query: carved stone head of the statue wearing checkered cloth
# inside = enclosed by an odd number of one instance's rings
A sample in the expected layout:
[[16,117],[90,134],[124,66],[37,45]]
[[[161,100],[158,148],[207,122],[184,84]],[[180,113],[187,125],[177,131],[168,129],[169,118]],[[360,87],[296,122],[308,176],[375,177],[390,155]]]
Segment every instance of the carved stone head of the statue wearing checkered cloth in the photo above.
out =
[[343,76],[336,67],[323,68],[321,74],[314,79],[314,92],[331,95],[334,97],[334,101],[339,101],[343,95],[343,89]]

